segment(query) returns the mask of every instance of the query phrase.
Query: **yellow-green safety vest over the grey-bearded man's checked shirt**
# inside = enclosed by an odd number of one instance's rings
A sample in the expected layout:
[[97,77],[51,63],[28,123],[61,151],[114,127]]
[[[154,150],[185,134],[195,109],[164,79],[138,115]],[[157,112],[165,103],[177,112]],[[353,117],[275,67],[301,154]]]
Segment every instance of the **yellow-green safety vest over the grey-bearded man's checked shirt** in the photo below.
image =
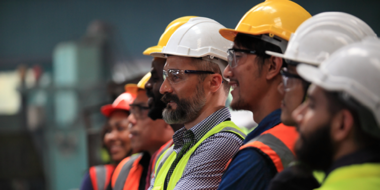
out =
[[[215,135],[216,133],[222,133],[222,132],[234,133],[241,139],[244,139],[246,137],[246,135],[232,121],[224,121],[218,124],[217,126],[215,126],[184,154],[184,156],[178,162],[177,166],[175,167],[173,171],[173,174],[167,186],[167,190],[173,190],[175,186],[177,185],[177,182],[182,178],[182,174],[190,159],[190,156],[196,150],[199,144],[202,143],[207,138],[209,138],[210,136]],[[154,181],[153,190],[164,189],[165,178],[168,174],[170,166],[172,165],[172,163],[174,162],[177,156],[177,153],[173,150],[173,147],[174,146],[171,146],[169,149],[167,149],[158,159],[158,162],[157,162],[158,164],[156,164],[156,169],[155,169],[156,178]]]

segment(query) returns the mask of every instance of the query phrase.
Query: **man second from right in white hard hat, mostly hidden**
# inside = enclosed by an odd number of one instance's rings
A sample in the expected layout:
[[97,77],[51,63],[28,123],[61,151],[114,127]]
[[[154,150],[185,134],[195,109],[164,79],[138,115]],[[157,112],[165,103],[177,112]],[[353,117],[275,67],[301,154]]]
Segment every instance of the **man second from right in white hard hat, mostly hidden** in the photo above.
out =
[[[297,28],[284,54],[267,51],[267,54],[282,57],[287,62],[281,70],[283,83],[279,86],[279,92],[284,95],[281,121],[287,126],[296,125],[291,113],[305,100],[310,85],[296,71],[300,62],[318,66],[340,47],[369,37],[375,39],[375,32],[359,18],[343,12],[323,12]],[[298,163],[276,175],[269,190],[317,187],[319,184],[309,167]]]

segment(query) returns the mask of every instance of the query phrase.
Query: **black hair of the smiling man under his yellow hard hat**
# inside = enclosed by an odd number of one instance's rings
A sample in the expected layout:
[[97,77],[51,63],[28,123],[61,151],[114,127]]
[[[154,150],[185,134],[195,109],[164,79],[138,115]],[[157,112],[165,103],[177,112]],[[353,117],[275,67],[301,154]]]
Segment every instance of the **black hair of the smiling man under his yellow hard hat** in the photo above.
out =
[[[234,44],[239,47],[244,47],[249,50],[256,51],[257,58],[260,59],[260,61],[258,61],[260,73],[261,69],[264,66],[265,59],[271,58],[271,55],[266,54],[265,51],[283,53],[279,46],[261,40],[259,36],[253,36],[249,34],[238,33],[238,35],[235,37]],[[284,64],[285,60],[283,59],[283,66]]]

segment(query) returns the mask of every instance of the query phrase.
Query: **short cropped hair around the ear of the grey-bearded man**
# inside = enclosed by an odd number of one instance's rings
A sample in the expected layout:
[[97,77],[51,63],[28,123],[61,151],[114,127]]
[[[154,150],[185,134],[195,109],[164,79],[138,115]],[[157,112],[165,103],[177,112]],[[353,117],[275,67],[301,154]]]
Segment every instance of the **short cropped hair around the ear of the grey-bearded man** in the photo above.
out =
[[[214,72],[214,73],[218,73],[220,75],[222,75],[223,77],[223,74],[220,70],[220,67],[218,64],[216,63],[213,63],[211,61],[207,61],[207,60],[203,60],[201,58],[193,58],[194,61],[193,63],[195,63],[195,68],[197,70],[201,70],[201,71],[211,71],[211,72]],[[207,74],[199,74],[199,82],[203,82],[207,77]],[[228,95],[228,93],[230,93],[230,88],[231,88],[231,85],[228,84],[228,81],[226,81],[224,78],[222,79],[223,80],[223,88],[224,88],[224,91],[226,92],[226,95]]]

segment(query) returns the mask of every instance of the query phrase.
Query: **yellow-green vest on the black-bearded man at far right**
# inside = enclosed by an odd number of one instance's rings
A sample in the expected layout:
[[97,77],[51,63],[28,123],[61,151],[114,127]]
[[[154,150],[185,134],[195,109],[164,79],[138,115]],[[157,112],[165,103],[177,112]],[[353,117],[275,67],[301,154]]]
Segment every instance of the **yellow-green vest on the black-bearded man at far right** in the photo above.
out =
[[380,163],[343,166],[333,170],[315,190],[379,190]]

